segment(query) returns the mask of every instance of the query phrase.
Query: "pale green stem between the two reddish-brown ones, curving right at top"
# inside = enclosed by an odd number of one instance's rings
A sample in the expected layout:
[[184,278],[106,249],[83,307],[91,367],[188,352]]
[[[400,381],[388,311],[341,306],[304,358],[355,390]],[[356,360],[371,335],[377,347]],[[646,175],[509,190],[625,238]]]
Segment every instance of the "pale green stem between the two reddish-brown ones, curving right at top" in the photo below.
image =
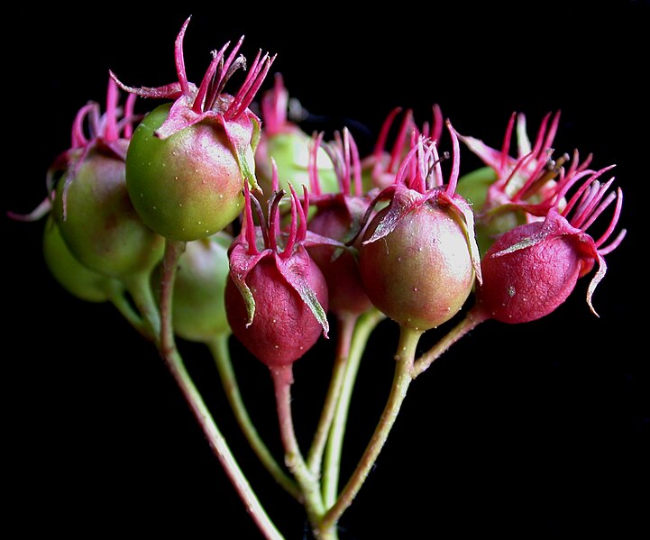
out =
[[359,371],[363,352],[372,331],[382,321],[384,316],[378,309],[364,313],[356,320],[354,326],[348,361],[345,366],[341,395],[336,404],[334,421],[330,430],[329,439],[325,448],[325,466],[323,470],[323,499],[325,508],[330,508],[336,500],[338,480],[341,469],[341,453],[343,451],[343,435],[347,424],[352,389]]

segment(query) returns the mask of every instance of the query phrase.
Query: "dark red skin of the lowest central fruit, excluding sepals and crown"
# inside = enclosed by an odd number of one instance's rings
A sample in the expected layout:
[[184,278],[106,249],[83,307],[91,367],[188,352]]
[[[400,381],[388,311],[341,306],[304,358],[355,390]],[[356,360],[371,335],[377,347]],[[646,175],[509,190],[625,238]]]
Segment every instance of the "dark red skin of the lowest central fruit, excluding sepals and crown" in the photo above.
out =
[[[307,257],[303,275],[318,303],[327,310],[327,286],[316,262]],[[273,257],[261,259],[246,277],[255,300],[255,316],[247,324],[248,312],[233,279],[225,286],[225,305],[233,334],[256,358],[269,367],[296,362],[323,332],[311,307],[279,272]]]

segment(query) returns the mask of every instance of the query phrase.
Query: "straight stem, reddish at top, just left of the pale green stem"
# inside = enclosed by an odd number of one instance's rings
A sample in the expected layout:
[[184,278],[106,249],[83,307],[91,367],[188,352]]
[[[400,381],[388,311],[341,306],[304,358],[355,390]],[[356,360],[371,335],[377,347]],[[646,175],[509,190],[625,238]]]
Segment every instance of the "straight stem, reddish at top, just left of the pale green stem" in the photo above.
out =
[[350,356],[350,343],[352,342],[352,334],[354,332],[354,325],[357,321],[356,315],[345,314],[337,316],[339,332],[336,343],[336,357],[334,358],[334,369],[332,371],[332,380],[330,381],[327,395],[325,396],[325,404],[321,412],[320,420],[314,435],[314,441],[307,456],[307,466],[312,474],[318,474],[320,467],[323,463],[323,453],[325,451],[325,444],[327,443],[327,435],[332,428],[334,420],[334,412],[336,405],[341,395],[343,387],[343,380],[345,376],[345,367],[347,365],[348,357]]

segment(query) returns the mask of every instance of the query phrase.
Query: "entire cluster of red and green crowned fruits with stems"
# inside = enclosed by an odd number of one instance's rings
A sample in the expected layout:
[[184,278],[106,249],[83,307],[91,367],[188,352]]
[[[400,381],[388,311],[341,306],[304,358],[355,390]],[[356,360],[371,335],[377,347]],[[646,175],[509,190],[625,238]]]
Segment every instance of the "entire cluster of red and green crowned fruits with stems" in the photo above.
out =
[[[513,114],[495,149],[458,133],[437,105],[422,125],[395,109],[362,156],[348,129],[326,140],[291,120],[279,74],[261,93],[274,57],[260,52],[247,66],[242,40],[215,50],[200,84],[190,82],[188,23],[176,41],[179,80],[129,87],[111,72],[105,111],[90,102],[78,112],[70,148],[48,170],[47,199],[32,215],[14,217],[47,215],[43,252],[52,275],[79,298],[113,302],[158,347],[261,531],[279,538],[237,481],[241,471],[223,458],[227,446],[174,339],[210,346],[224,383],[235,387],[227,336],[266,364],[287,471],[231,392],[233,410],[261,461],[305,505],[316,537],[335,538],[408,384],[452,343],[485,320],[517,324],[552,313],[594,269],[587,302],[596,313],[604,257],[625,235],[616,233],[622,193],[610,191],[613,178],[603,180],[611,167],[591,169],[591,158],[577,151],[554,157],[559,114],[544,118],[532,143],[525,116]],[[227,93],[239,69],[243,83]],[[138,96],[163,103],[142,116],[134,113]],[[441,151],[447,140],[451,150]],[[462,145],[484,166],[461,174]],[[608,208],[592,237],[587,231]],[[417,358],[419,337],[463,308],[460,322]],[[393,389],[371,444],[339,490],[352,364],[360,356],[351,344],[385,317],[400,330]],[[341,343],[303,457],[291,421],[292,364],[328,336],[333,320]]]

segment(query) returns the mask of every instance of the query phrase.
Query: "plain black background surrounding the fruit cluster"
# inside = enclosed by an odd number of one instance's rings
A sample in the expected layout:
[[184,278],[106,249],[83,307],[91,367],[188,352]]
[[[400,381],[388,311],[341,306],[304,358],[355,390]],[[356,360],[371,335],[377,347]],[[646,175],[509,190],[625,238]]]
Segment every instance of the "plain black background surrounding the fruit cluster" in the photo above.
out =
[[[582,279],[551,316],[485,323],[454,345],[409,390],[343,516],[342,540],[647,537],[648,4],[544,3],[519,13],[492,3],[402,3],[359,14],[329,3],[307,11],[119,7],[20,8],[5,20],[3,485],[19,530],[261,537],[157,352],[112,307],[70,297],[50,278],[41,222],[5,218],[44,197],[45,170],[68,148],[78,108],[103,102],[108,69],[133,86],[176,80],[173,43],[192,14],[190,80],[200,81],[210,50],[245,35],[249,59],[258,49],[278,54],[273,71],[313,114],[308,129],[348,125],[362,150],[397,105],[424,122],[438,103],[461,133],[491,146],[513,111],[526,114],[532,134],[544,114],[561,109],[558,152],[577,148],[593,153],[594,167],[617,164],[619,226],[628,233],[593,298],[600,318],[590,314]],[[443,331],[426,334],[423,346]],[[389,321],[371,336],[352,401],[347,471],[388,395],[396,339]],[[295,365],[304,445],[333,341]],[[302,509],[243,443],[206,350],[180,346],[270,517],[287,540],[307,537]],[[266,368],[237,343],[233,355],[251,414],[279,456]]]

